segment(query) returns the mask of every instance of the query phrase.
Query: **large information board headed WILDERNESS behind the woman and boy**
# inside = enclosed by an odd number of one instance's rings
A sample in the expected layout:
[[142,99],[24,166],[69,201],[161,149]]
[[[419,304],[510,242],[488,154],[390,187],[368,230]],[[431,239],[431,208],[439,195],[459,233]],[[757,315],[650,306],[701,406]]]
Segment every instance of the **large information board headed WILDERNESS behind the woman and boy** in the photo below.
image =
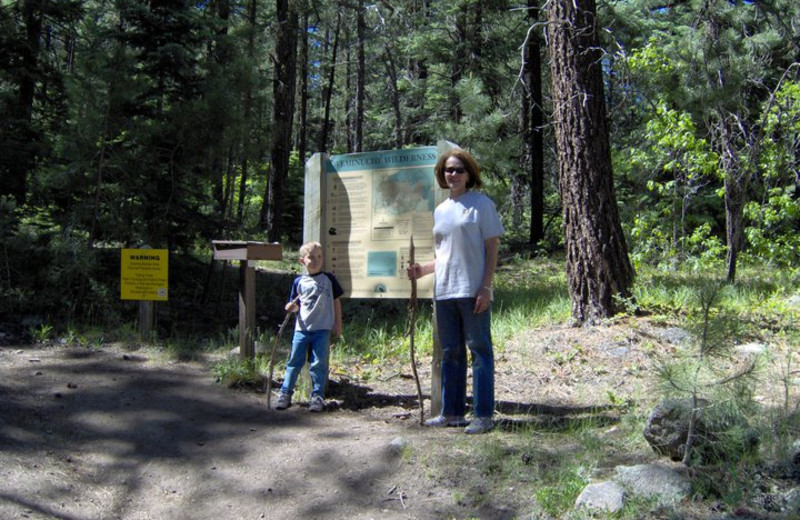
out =
[[[434,177],[436,147],[334,155],[324,162],[321,232],[326,269],[351,298],[407,298],[410,239],[433,259],[433,210],[447,192]],[[432,296],[433,277],[418,294]]]

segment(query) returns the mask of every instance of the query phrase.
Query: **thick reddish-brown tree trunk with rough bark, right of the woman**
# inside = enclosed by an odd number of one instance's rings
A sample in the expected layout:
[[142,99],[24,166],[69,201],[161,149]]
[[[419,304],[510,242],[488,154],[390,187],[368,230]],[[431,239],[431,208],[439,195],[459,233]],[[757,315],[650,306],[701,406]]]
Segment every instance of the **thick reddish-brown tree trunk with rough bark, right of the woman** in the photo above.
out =
[[614,315],[634,271],[614,194],[594,0],[552,0],[548,36],[567,277],[576,325]]

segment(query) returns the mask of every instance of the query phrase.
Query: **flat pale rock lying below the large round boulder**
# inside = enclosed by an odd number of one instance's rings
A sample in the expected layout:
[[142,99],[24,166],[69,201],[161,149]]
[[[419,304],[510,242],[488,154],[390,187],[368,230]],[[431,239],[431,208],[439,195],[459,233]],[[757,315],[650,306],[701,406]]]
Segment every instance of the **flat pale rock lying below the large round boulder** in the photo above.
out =
[[660,504],[674,504],[692,492],[687,477],[656,464],[617,466],[614,480],[634,495],[654,498]]

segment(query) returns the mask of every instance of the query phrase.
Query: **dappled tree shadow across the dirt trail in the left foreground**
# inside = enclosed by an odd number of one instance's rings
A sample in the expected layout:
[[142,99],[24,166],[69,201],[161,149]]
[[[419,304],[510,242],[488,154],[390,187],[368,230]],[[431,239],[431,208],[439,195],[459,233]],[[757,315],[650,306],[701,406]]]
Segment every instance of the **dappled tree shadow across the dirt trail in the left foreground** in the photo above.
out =
[[[254,445],[296,442],[296,427],[313,431],[317,424],[313,414],[270,413],[251,390],[215,384],[196,365],[149,363],[143,356],[103,350],[76,355],[53,349],[30,357],[38,359],[0,366],[0,466],[17,468],[21,477],[0,482],[0,517],[20,511],[92,516],[75,509],[71,498],[87,494],[98,517],[135,516],[142,505],[130,497],[151,494],[154,486],[168,490],[170,483],[157,483],[154,475],[173,471],[182,475],[173,478],[192,483],[176,486],[196,495],[195,503],[227,500],[242,492],[234,489],[242,482],[232,481],[223,468],[256,463],[261,455]],[[389,474],[391,468],[371,468],[368,477],[377,478],[376,472]],[[269,471],[259,475],[281,482]],[[344,491],[339,497],[348,500]],[[58,503],[67,506],[53,506]],[[189,510],[177,511],[178,517],[192,517]]]

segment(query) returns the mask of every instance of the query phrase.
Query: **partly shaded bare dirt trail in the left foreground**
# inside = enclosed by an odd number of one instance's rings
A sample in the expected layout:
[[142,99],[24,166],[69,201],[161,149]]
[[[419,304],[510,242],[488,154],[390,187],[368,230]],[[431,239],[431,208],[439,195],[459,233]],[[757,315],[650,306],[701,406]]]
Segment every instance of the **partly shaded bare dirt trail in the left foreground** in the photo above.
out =
[[439,517],[447,496],[392,444],[432,432],[386,397],[268,412],[265,394],[225,388],[200,363],[4,348],[0,518]]

